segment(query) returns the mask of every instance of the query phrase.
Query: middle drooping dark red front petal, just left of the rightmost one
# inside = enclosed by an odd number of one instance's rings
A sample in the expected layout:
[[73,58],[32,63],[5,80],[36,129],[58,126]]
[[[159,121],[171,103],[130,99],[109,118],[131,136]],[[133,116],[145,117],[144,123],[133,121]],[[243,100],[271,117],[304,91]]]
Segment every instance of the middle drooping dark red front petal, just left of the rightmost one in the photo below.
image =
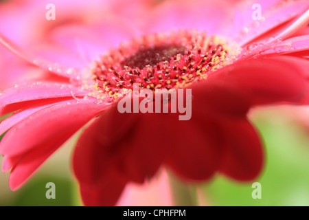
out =
[[[197,115],[192,109],[192,119],[179,121],[178,117],[166,120],[168,133],[161,139],[165,148],[167,166],[190,181],[209,179],[220,163],[222,143],[216,115],[204,111]],[[156,134],[159,136],[159,133]]]

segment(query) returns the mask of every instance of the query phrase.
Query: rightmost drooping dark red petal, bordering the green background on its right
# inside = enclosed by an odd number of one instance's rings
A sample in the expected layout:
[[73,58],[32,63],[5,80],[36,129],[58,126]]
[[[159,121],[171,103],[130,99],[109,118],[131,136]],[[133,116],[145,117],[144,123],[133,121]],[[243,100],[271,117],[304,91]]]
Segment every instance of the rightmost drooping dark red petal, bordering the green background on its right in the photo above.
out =
[[239,181],[252,181],[261,173],[264,153],[260,137],[246,119],[226,119],[225,151],[220,172]]

